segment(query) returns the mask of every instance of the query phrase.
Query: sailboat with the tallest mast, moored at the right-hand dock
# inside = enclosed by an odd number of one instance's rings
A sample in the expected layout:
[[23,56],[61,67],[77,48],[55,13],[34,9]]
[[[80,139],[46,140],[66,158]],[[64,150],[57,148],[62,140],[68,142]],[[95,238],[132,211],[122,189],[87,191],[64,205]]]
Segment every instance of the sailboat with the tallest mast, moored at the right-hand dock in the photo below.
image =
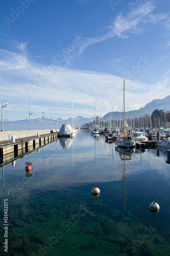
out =
[[116,139],[116,144],[118,147],[134,147],[135,140],[131,138],[130,135],[125,133],[125,79],[124,79],[124,98],[123,98],[123,105],[124,105],[124,132]]

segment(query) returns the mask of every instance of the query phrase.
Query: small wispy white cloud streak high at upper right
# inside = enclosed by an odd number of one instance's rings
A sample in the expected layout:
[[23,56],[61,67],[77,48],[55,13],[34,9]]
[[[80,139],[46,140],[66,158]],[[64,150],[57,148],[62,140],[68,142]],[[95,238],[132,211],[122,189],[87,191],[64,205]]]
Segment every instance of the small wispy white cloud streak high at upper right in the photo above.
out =
[[87,47],[109,38],[128,38],[132,33],[142,33],[144,25],[147,23],[156,24],[164,20],[165,24],[167,24],[169,13],[153,14],[152,12],[155,8],[156,6],[153,1],[142,4],[137,4],[136,2],[135,7],[133,6],[133,10],[128,14],[121,12],[114,18],[112,23],[108,26],[109,31],[106,34],[84,39],[83,44],[79,48],[78,55],[80,56]]

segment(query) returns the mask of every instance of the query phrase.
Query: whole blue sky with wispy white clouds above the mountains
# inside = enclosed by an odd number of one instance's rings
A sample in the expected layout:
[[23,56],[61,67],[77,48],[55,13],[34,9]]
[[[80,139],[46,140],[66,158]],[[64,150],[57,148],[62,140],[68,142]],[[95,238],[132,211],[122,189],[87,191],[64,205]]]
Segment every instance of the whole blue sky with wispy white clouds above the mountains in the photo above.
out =
[[103,116],[170,95],[169,0],[1,1],[4,118]]

